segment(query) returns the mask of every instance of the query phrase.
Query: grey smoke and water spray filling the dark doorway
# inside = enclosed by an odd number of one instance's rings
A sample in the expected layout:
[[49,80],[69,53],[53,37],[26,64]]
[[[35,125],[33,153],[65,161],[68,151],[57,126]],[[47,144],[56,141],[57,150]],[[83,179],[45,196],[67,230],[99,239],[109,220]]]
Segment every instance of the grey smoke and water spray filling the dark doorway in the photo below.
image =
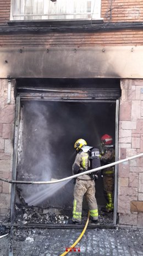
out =
[[[101,135],[114,137],[115,105],[24,101],[21,108],[18,180],[50,181],[72,175],[74,143],[83,138],[90,146]],[[51,185],[18,185],[29,205],[63,206],[73,202],[73,180]]]

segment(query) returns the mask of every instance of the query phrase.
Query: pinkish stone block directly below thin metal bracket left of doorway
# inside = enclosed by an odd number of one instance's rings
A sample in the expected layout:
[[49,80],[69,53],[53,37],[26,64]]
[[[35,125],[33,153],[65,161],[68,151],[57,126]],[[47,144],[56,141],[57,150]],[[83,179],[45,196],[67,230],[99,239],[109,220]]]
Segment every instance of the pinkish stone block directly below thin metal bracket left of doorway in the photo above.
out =
[[5,105],[0,109],[1,123],[14,123],[15,105]]

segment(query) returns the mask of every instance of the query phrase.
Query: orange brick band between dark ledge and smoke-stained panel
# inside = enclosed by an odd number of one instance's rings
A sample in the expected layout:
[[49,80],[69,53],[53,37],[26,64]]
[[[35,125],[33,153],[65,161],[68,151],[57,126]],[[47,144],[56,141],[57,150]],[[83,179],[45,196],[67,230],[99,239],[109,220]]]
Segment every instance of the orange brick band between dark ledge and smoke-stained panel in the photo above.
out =
[[117,46],[142,45],[143,31],[122,30],[106,33],[45,33],[1,35],[0,47],[22,46]]

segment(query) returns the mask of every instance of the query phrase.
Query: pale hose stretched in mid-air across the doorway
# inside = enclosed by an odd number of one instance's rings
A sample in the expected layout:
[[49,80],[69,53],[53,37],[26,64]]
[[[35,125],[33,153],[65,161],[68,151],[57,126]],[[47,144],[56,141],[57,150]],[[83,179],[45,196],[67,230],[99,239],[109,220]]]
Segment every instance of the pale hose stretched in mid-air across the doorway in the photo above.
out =
[[[17,183],[18,184],[53,184],[53,183],[58,183],[58,182],[62,182],[62,181],[65,181],[65,180],[74,179],[74,178],[79,177],[79,176],[81,176],[83,174],[94,173],[96,171],[99,171],[99,170],[102,170],[102,169],[105,169],[105,168],[108,168],[108,167],[111,167],[111,166],[123,163],[125,161],[129,161],[129,160],[132,160],[132,159],[135,159],[135,158],[140,158],[141,156],[143,156],[143,153],[138,154],[138,155],[134,155],[134,156],[131,156],[129,158],[125,158],[125,159],[122,159],[122,160],[119,160],[119,161],[116,161],[116,162],[111,163],[111,164],[103,165],[101,167],[98,167],[98,168],[95,168],[95,169],[92,169],[92,170],[89,170],[89,171],[84,171],[84,173],[75,174],[75,175],[63,178],[61,180],[53,180],[53,181],[19,181],[19,180],[4,180],[3,179],[3,181],[10,182],[10,183],[15,183],[15,184],[17,184]],[[136,167],[136,168],[138,168],[138,167]],[[2,180],[2,179],[0,178],[0,180]]]

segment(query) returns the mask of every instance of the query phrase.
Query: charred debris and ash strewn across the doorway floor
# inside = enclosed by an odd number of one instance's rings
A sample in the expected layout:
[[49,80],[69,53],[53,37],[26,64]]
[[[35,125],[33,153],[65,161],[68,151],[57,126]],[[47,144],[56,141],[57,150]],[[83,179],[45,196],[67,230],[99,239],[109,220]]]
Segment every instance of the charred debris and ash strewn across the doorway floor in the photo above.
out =
[[[16,206],[15,223],[27,224],[68,224],[68,220],[72,218],[73,208],[60,210],[57,208],[38,208],[34,206]],[[81,224],[85,224],[87,220],[88,210],[83,210]],[[113,213],[105,213],[99,209],[98,223],[101,225],[113,224]]]

